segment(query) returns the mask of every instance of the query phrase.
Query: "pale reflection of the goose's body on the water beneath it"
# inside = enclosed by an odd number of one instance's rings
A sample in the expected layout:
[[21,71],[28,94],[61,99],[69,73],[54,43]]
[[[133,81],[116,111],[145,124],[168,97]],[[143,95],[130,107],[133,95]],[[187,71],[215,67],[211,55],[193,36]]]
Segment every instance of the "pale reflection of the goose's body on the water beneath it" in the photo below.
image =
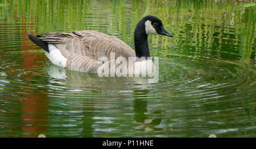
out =
[[129,89],[148,89],[154,86],[148,83],[148,77],[98,77],[97,74],[69,71],[56,65],[49,65],[47,72],[51,84],[57,83],[69,89],[126,92]]

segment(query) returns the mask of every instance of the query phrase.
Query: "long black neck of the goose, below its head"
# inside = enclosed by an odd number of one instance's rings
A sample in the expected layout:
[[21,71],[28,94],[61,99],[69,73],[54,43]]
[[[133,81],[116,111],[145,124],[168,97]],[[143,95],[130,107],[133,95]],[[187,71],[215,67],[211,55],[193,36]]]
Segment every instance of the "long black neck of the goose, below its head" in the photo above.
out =
[[135,27],[134,45],[137,57],[145,57],[146,59],[147,57],[150,57],[144,20],[140,20],[137,26]]

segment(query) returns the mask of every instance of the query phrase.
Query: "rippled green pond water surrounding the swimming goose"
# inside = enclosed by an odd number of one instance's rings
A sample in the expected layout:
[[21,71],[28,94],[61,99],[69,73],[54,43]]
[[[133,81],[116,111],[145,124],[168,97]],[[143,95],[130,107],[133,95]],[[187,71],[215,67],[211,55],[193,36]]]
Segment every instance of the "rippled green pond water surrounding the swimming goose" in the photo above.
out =
[[[253,3],[0,0],[0,137],[255,137]],[[96,30],[134,48],[145,15],[174,35],[148,38],[155,84],[56,67],[27,38]]]

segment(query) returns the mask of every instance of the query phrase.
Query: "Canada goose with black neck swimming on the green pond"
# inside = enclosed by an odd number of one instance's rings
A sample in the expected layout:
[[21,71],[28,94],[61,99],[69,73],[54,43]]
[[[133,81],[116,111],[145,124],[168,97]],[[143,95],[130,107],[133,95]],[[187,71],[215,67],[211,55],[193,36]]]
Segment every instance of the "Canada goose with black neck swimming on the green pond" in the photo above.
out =
[[[115,38],[114,36],[106,35],[97,31],[72,31],[72,33],[65,32],[51,32],[41,35],[28,34],[28,38],[36,45],[44,49],[46,56],[51,61],[60,67],[65,67],[73,71],[97,73],[99,68],[111,67],[113,63],[105,63],[101,57],[105,57],[108,60],[117,59],[114,68],[117,69],[121,64],[119,57],[124,57],[126,60],[129,57],[132,59],[133,66],[131,69],[123,71],[123,73],[134,73],[134,66],[144,65],[146,62],[154,69],[150,57],[150,51],[148,49],[147,36],[150,34],[159,34],[172,37],[166,29],[160,19],[155,16],[145,16],[139,20],[134,30],[134,44],[135,52],[129,47],[129,45],[122,42],[122,40]],[[114,55],[111,55],[114,52]],[[136,57],[138,58],[135,59]],[[145,59],[141,59],[145,57]],[[129,59],[130,60],[130,59]],[[128,65],[128,64],[127,64]],[[110,70],[113,71],[113,70]],[[141,72],[140,72],[141,73]]]

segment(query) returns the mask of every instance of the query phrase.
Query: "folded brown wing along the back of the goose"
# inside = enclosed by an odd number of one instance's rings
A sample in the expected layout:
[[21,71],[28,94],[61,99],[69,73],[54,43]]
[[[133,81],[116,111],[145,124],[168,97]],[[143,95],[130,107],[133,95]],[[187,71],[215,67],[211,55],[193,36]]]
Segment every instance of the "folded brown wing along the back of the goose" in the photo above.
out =
[[115,58],[135,57],[135,52],[129,45],[102,32],[88,30],[72,33],[52,32],[38,35],[38,37],[44,42],[55,44],[67,59],[73,55],[88,56],[93,60],[98,60],[102,56],[110,59],[111,52],[115,52]]

